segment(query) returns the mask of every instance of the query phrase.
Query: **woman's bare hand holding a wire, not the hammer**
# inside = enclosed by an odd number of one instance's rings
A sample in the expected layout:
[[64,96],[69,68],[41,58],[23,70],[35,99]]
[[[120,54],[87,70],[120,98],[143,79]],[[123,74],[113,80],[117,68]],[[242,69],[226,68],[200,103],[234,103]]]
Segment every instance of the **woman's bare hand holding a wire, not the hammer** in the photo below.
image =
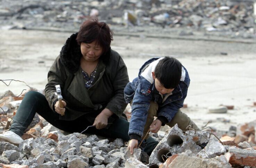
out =
[[102,112],[95,118],[93,126],[96,126],[96,129],[105,128],[108,125],[108,118],[113,115],[113,112],[105,108]]

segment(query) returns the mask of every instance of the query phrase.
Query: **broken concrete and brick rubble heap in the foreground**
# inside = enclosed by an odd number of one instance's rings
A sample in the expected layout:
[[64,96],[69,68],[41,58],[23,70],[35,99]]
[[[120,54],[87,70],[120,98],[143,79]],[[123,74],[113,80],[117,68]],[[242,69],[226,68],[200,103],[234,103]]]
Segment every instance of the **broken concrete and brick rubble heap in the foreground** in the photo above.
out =
[[[16,114],[23,97],[14,97],[11,91],[0,97],[0,133],[8,129],[8,119]],[[0,142],[0,167],[256,167],[255,128],[256,121],[239,125],[237,130],[232,126],[227,134],[219,136],[220,132],[211,128],[182,132],[176,124],[164,136],[151,134],[159,144],[150,157],[141,149],[135,149],[131,156],[122,139],[66,134],[36,115],[18,147]]]

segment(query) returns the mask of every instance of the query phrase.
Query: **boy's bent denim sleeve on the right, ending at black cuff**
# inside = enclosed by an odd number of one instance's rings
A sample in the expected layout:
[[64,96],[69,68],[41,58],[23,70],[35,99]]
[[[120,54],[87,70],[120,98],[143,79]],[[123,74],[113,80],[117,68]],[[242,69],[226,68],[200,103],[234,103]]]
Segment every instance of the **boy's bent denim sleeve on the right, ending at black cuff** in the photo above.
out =
[[188,92],[188,86],[183,85],[182,90],[182,98],[178,99],[176,101],[173,101],[163,107],[160,107],[158,110],[158,116],[164,116],[167,118],[168,122],[172,120],[172,118],[175,116],[175,114],[178,112],[178,110],[183,107],[183,103],[185,98],[187,97]]

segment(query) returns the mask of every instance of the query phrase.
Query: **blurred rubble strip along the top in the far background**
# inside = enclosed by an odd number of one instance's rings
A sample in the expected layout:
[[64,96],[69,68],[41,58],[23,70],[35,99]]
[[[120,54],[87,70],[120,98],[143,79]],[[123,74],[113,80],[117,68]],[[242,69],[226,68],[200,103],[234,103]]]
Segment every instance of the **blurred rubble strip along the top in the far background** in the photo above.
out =
[[244,38],[254,38],[256,33],[254,0],[1,0],[0,5],[0,25],[5,28],[77,30],[88,16],[98,16],[112,24],[113,29],[114,25],[121,26],[115,32],[132,25],[141,29],[129,30],[140,32],[161,26],[167,29],[163,33],[173,27]]

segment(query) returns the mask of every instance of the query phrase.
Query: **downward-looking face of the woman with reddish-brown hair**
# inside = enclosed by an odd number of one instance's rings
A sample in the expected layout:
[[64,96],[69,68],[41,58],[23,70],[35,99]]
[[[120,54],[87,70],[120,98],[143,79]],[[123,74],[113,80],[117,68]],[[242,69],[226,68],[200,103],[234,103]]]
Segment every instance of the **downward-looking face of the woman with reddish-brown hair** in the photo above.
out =
[[100,58],[103,48],[96,44],[96,41],[92,43],[81,43],[81,52],[85,61],[96,61]]

